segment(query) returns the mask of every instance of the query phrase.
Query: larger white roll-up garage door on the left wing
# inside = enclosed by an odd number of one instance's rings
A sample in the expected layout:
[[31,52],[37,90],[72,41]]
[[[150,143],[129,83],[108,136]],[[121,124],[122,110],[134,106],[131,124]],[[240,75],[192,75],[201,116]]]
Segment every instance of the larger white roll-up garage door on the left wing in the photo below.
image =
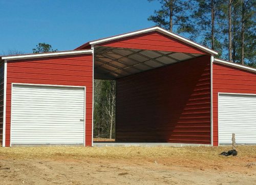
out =
[[13,84],[11,144],[84,144],[83,87]]

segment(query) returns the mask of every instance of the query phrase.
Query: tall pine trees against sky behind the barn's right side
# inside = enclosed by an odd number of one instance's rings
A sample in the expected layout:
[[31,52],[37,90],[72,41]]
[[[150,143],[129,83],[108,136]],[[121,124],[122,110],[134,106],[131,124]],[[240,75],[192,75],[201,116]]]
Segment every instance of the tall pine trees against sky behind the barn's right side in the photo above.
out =
[[219,58],[256,67],[255,0],[152,1],[161,4],[148,17],[157,26],[218,51]]

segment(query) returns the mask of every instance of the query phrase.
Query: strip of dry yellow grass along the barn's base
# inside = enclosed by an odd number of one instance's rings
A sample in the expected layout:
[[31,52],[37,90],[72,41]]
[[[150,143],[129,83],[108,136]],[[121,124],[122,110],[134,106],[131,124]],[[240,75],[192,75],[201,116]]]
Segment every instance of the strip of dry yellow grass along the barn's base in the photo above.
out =
[[[0,148],[1,158],[42,159],[42,158],[194,158],[204,160],[232,157],[219,156],[222,151],[231,147],[6,147]],[[238,157],[256,158],[256,146],[238,146]]]

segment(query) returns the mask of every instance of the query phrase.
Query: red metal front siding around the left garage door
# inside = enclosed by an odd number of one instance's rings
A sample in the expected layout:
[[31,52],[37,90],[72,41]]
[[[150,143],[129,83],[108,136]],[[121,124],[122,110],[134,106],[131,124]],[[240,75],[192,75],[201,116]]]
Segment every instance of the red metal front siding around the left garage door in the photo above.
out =
[[86,146],[92,145],[92,55],[8,61],[6,146],[10,146],[11,83],[86,86]]

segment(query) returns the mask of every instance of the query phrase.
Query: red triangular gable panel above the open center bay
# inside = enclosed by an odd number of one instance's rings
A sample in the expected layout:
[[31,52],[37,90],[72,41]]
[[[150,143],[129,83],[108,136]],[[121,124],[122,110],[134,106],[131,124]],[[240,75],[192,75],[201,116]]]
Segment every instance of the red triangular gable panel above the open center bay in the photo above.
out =
[[191,47],[189,44],[159,32],[143,33],[97,45],[105,47],[205,54],[201,50]]

